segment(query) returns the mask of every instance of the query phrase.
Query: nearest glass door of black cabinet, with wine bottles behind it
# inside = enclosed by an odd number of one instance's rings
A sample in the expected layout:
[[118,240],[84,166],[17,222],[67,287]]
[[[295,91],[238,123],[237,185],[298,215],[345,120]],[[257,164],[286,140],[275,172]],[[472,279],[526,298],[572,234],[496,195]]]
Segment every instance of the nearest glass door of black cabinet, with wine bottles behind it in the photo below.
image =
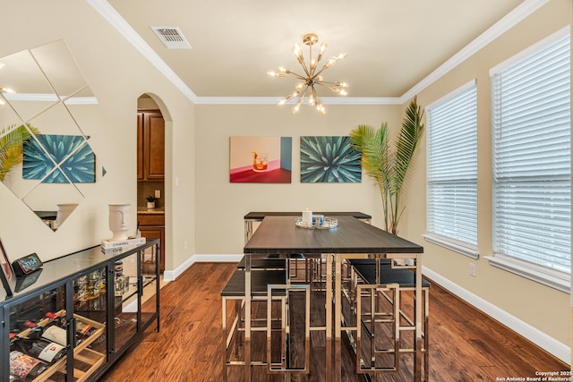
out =
[[5,306],[10,380],[66,380],[69,336],[65,292],[65,284],[61,284],[26,301]]

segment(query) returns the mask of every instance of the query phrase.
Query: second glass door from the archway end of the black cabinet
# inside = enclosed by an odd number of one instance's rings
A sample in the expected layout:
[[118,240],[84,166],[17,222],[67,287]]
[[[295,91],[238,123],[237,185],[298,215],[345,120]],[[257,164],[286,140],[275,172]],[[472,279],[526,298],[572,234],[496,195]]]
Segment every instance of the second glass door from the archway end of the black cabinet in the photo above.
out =
[[112,350],[118,352],[137,333],[139,311],[138,254],[133,253],[115,261],[114,270],[114,324]]

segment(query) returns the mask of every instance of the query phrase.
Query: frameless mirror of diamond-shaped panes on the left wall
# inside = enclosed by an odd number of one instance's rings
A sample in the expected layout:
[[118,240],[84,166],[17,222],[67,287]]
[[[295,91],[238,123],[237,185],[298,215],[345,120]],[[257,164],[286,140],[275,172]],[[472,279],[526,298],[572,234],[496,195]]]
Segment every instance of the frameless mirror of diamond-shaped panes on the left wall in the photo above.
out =
[[98,101],[61,39],[0,58],[0,104],[0,181],[56,231],[105,174],[77,122]]

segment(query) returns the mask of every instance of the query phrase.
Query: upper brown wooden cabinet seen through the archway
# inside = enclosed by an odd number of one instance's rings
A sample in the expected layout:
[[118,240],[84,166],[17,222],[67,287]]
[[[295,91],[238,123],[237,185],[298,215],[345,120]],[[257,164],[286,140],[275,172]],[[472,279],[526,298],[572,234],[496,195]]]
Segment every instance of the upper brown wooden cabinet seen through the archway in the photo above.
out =
[[165,179],[165,121],[159,110],[137,114],[137,179]]

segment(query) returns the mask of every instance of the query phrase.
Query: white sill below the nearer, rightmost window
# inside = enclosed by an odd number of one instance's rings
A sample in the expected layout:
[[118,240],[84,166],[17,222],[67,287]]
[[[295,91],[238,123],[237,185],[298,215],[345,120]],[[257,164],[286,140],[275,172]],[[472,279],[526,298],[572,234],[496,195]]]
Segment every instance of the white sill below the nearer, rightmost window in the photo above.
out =
[[485,256],[484,259],[488,259],[493,267],[499,267],[518,276],[526,277],[560,292],[570,293],[571,291],[571,276],[566,273],[503,255]]

